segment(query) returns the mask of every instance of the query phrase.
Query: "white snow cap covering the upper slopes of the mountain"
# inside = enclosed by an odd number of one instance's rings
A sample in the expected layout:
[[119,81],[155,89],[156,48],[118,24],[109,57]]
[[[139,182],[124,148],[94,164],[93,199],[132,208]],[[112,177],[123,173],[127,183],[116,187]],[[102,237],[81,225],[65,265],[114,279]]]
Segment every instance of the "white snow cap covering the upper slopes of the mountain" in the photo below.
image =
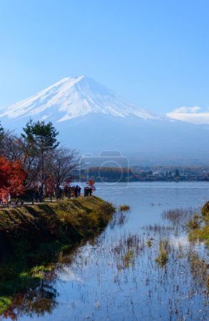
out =
[[127,116],[144,119],[163,118],[138,108],[111,89],[86,76],[63,78],[36,95],[10,106],[0,114],[0,117],[38,116],[41,119],[49,118],[63,122],[89,113],[121,118]]

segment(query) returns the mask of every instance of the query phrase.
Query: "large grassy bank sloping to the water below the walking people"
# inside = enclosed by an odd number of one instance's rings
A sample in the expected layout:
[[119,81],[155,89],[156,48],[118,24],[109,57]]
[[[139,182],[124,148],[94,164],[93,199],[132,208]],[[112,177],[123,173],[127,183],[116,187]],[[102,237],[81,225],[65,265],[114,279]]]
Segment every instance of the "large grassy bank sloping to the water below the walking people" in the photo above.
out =
[[102,230],[114,210],[95,196],[0,210],[0,313],[39,284],[57,253]]

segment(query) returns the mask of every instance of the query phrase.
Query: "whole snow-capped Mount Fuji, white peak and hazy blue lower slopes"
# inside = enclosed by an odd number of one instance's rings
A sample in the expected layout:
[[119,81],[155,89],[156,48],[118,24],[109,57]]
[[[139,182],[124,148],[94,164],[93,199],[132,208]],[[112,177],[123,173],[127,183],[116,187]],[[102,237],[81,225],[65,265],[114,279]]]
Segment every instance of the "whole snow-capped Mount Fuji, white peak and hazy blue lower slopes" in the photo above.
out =
[[52,121],[61,142],[98,156],[118,151],[136,163],[208,161],[208,128],[150,113],[86,76],[63,78],[0,111],[4,127]]

